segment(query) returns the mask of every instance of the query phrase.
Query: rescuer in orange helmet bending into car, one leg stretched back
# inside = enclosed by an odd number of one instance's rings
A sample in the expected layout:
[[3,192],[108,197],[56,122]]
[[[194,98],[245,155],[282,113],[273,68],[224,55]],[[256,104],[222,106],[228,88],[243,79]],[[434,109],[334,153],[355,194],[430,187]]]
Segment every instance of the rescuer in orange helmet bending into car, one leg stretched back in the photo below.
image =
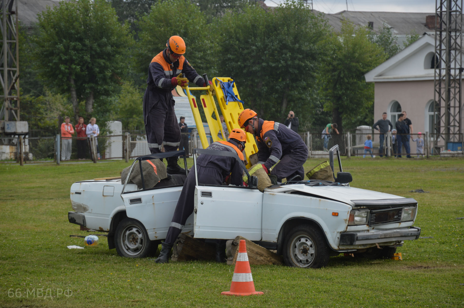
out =
[[[207,150],[229,151],[236,153],[238,158],[244,161],[243,150],[245,149],[246,134],[241,129],[233,129],[228,141],[216,141],[208,146]],[[210,185],[222,185],[226,177],[230,178],[230,184],[242,186],[244,170],[238,164],[237,159],[226,156],[215,156],[201,154],[197,159],[198,183]],[[161,243],[161,253],[156,258],[156,263],[168,263],[169,252],[175,240],[185,225],[188,216],[193,213],[193,202],[195,199],[195,172],[194,167],[190,169],[187,179],[180,193],[179,201],[174,211],[174,216],[169,226],[168,234]],[[216,261],[224,262],[226,246],[221,242],[216,245]]]

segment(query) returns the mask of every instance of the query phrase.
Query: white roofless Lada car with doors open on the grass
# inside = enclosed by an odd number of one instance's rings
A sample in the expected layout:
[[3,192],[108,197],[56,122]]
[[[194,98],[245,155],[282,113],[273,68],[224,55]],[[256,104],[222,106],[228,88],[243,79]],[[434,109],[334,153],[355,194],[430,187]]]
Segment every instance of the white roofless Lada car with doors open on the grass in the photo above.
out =
[[[231,152],[195,151],[238,159]],[[182,154],[138,157],[131,170],[139,168],[142,160]],[[182,233],[200,239],[240,235],[277,250],[289,266],[312,268],[327,265],[330,256],[341,252],[391,258],[405,240],[419,238],[420,228],[413,226],[417,201],[349,187],[352,177],[342,172],[337,145],[330,149],[329,157],[332,170],[334,157],[338,159],[340,172],[334,176],[335,182],[293,180],[264,192],[256,188],[257,178],[249,175],[248,187],[197,183],[194,212]],[[185,159],[184,163],[187,170]],[[184,180],[185,176],[176,175],[142,189],[121,179],[75,182],[69,222],[108,232],[109,248],[116,248],[120,256],[147,257],[166,237]]]

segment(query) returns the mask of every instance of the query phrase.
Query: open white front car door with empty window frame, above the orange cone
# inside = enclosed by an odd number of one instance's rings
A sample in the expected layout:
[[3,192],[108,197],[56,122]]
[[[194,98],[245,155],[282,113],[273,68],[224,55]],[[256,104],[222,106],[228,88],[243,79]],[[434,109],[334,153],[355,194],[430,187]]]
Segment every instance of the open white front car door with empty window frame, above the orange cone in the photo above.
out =
[[[209,154],[237,159],[247,174],[248,187],[205,185],[198,183],[196,155]],[[263,193],[257,188],[258,179],[250,176],[236,153],[195,149],[195,209],[194,236],[202,239],[235,239],[238,235],[250,240],[262,238]]]

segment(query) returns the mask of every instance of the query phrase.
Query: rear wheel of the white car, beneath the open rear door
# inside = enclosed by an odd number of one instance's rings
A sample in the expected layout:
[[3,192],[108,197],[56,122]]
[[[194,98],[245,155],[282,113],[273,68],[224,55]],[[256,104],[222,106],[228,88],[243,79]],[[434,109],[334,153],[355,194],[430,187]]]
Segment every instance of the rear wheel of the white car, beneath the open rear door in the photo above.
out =
[[138,220],[125,218],[116,227],[115,246],[121,257],[148,257],[156,252],[158,244],[148,238],[147,229]]

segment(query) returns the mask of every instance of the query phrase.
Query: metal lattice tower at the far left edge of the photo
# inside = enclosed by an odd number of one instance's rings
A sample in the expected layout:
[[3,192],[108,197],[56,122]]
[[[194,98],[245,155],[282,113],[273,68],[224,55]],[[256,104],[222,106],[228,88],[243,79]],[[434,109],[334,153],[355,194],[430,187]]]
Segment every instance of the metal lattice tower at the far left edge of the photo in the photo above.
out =
[[0,0],[0,83],[3,104],[0,119],[19,121],[19,44],[18,44],[18,3],[14,0]]

